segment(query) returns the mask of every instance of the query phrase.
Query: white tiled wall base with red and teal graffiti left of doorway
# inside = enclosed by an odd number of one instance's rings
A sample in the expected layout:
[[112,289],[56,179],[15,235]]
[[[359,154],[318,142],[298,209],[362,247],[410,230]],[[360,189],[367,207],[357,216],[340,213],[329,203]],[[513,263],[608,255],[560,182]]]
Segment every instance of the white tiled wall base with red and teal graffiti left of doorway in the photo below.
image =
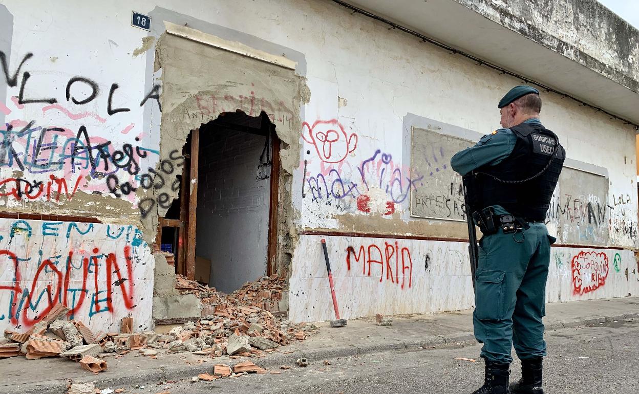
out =
[[134,310],[148,326],[137,305],[152,297],[151,261],[132,225],[0,219],[0,328],[29,328],[57,304],[96,330]]

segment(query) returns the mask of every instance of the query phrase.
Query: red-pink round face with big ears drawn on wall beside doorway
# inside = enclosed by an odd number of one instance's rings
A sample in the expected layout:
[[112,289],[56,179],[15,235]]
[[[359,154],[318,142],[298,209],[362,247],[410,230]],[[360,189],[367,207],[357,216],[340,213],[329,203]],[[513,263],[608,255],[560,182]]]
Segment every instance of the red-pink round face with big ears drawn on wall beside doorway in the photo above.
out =
[[304,122],[302,138],[312,144],[321,161],[339,163],[357,148],[357,134],[346,134],[337,119],[315,121],[313,125]]

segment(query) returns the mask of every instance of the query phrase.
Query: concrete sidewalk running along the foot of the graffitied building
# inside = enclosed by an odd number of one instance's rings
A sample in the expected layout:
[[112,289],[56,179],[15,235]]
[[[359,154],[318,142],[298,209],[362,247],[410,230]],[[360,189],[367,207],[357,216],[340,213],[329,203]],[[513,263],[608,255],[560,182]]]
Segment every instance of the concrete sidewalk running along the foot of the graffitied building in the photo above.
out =
[[[546,314],[546,330],[638,319],[639,297],[549,304]],[[275,370],[281,365],[296,367],[295,360],[300,357],[314,362],[370,352],[474,342],[471,310],[394,317],[390,327],[376,326],[374,319],[351,320],[344,328],[330,328],[327,323],[317,325],[320,327],[318,335],[281,347],[278,352],[263,358],[248,360],[260,367]],[[3,377],[0,394],[66,393],[70,381],[94,382],[96,388],[115,389],[149,381],[190,379],[197,374],[212,372],[216,363],[235,365],[244,360],[247,359],[231,360],[226,356],[209,358],[188,352],[158,354],[157,359],[151,359],[132,351],[121,358],[105,358],[109,369],[100,374],[91,374],[78,363],[65,358],[26,360],[24,357],[13,357],[0,361],[0,375]]]

